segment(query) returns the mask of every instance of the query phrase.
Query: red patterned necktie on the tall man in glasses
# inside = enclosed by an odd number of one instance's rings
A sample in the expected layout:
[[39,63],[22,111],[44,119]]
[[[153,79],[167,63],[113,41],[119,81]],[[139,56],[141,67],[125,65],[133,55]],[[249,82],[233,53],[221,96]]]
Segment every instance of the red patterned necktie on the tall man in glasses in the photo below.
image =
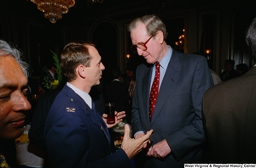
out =
[[149,120],[151,120],[151,117],[154,113],[154,104],[156,102],[156,98],[158,95],[159,81],[160,81],[160,64],[159,64],[159,62],[156,62],[155,63],[154,81],[152,83],[150,97],[149,97]]

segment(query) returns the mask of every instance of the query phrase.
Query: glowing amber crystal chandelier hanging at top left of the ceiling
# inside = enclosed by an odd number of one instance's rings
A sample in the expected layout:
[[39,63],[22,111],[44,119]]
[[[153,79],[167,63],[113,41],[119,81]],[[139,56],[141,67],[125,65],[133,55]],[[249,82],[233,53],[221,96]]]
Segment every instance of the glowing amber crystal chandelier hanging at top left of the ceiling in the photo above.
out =
[[38,5],[38,9],[44,12],[44,17],[50,23],[61,20],[62,14],[67,14],[68,8],[73,7],[75,0],[31,0]]

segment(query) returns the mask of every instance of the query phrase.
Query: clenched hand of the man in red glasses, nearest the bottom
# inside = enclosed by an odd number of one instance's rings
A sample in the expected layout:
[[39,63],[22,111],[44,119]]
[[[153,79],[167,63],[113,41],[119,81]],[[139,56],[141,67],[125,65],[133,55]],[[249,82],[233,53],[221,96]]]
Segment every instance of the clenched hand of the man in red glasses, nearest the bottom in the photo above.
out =
[[169,147],[166,139],[154,144],[153,147],[148,148],[148,156],[155,158],[164,158],[167,154],[170,154],[172,149]]

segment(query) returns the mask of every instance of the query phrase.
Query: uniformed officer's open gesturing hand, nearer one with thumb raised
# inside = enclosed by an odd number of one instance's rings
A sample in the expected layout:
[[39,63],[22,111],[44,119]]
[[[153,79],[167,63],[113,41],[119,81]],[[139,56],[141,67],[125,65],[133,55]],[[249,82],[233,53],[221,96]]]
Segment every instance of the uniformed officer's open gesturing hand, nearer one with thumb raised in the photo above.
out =
[[145,145],[149,142],[149,137],[153,130],[147,132],[146,135],[138,137],[137,139],[131,139],[130,137],[131,128],[128,124],[125,124],[125,136],[121,148],[125,151],[129,159],[133,158],[139,153]]

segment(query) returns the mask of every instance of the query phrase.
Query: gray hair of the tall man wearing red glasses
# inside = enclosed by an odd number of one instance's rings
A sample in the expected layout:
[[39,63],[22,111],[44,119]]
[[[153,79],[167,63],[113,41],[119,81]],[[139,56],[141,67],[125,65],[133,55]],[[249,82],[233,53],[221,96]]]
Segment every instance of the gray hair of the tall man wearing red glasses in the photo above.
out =
[[131,23],[128,25],[128,31],[131,32],[131,30],[135,29],[139,23],[146,25],[149,36],[155,36],[157,31],[162,31],[165,39],[168,36],[168,33],[166,32],[166,25],[158,16],[154,14],[144,15],[131,21]]

